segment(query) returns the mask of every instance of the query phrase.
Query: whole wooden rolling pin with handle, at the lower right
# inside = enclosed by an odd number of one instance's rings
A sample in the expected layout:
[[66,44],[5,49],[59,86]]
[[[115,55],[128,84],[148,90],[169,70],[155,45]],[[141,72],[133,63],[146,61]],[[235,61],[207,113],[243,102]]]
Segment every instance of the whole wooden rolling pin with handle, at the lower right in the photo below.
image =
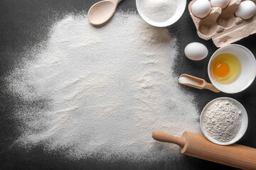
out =
[[165,132],[154,131],[152,137],[160,142],[179,145],[181,154],[238,169],[256,169],[256,149],[252,147],[238,144],[216,145],[205,136],[193,132],[183,132],[182,137],[175,137]]

